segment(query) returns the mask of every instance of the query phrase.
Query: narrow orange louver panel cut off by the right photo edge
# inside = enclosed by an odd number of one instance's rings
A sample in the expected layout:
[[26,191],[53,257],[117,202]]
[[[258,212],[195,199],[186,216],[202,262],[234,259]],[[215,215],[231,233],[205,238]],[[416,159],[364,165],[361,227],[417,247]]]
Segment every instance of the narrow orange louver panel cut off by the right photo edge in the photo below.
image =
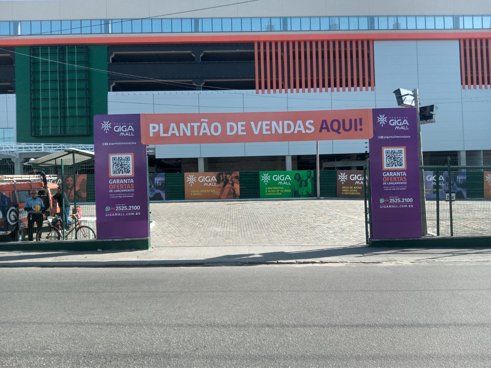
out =
[[490,39],[460,40],[462,89],[483,89],[490,85]]

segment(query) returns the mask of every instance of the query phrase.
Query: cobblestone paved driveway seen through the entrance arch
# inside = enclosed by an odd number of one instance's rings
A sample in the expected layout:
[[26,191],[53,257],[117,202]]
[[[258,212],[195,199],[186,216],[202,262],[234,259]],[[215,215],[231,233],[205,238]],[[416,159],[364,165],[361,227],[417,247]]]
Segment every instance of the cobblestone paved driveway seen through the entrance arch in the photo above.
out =
[[362,200],[150,204],[152,247],[365,243]]

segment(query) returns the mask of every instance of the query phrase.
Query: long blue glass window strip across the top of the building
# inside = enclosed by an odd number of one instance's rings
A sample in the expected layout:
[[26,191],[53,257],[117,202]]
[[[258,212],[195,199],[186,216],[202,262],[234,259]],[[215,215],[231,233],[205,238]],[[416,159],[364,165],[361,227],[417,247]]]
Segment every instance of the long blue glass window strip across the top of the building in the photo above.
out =
[[0,35],[490,28],[491,15],[145,18],[1,21]]

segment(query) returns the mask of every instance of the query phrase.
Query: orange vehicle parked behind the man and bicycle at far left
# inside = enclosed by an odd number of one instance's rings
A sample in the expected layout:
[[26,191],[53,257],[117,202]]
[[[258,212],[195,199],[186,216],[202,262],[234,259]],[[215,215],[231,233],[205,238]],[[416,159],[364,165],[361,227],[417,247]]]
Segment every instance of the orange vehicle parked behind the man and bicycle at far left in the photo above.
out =
[[[24,203],[31,189],[44,202],[45,218],[59,210],[53,198],[57,185],[50,183],[45,188],[38,175],[0,175],[0,241],[22,241],[27,237],[27,212]],[[34,229],[35,230],[35,229]]]

